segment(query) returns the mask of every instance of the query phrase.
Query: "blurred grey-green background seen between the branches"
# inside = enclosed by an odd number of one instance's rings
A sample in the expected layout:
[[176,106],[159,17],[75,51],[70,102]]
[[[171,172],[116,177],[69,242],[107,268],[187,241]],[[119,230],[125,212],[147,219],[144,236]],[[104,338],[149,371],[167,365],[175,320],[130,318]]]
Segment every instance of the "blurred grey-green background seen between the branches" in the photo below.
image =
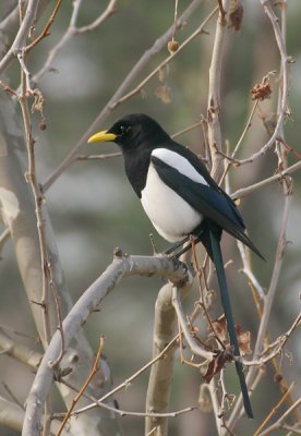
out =
[[[0,5],[0,19],[5,13],[9,1]],[[55,2],[50,2],[38,23],[37,32],[49,17]],[[189,1],[179,1],[179,15],[189,5]],[[105,8],[106,2],[85,0],[77,25],[89,24]],[[214,1],[204,1],[189,19],[185,26],[178,31],[176,39],[181,44],[205,20]],[[279,72],[279,55],[269,21],[257,1],[244,2],[242,28],[231,29],[227,38],[222,70],[221,129],[222,141],[229,141],[234,148],[252,107],[250,89],[260,83],[265,74]],[[37,170],[39,181],[44,183],[56,170],[62,159],[72,150],[76,142],[108,102],[112,94],[123,82],[127,74],[141,56],[153,46],[173,23],[174,2],[123,0],[118,3],[118,12],[93,33],[75,35],[55,58],[53,71],[46,74],[38,86],[46,99],[45,117],[47,129],[40,131],[40,118],[34,116],[34,129],[37,140]],[[43,68],[49,50],[62,38],[69,26],[72,3],[63,2],[51,26],[51,35],[44,39],[28,59],[33,75]],[[292,117],[286,122],[286,141],[300,153],[299,122],[301,122],[301,7],[299,0],[288,4],[287,47],[288,55],[296,63],[291,65],[289,104]],[[208,69],[215,35],[214,17],[205,29],[179,56],[156,75],[143,88],[143,95],[136,95],[120,105],[99,130],[109,128],[118,118],[131,112],[145,112],[157,119],[170,133],[177,133],[206,118]],[[135,84],[144,78],[160,61],[168,56],[167,48],[154,57]],[[14,63],[8,71],[7,81],[17,87],[19,65]],[[277,108],[278,75],[272,77],[272,98],[260,104],[262,114],[273,117]],[[267,133],[256,111],[252,126],[246,134],[238,157],[250,156],[267,141]],[[178,141],[189,145],[198,154],[204,153],[204,136],[201,126],[179,136]],[[83,155],[109,154],[117,152],[113,144],[87,145]],[[290,164],[296,157],[290,155]],[[253,165],[232,169],[230,173],[231,192],[246,186],[275,173],[277,158],[266,154]],[[293,174],[294,195],[290,210],[288,244],[284,267],[273,307],[270,328],[273,339],[286,331],[300,310],[300,172]],[[146,218],[140,201],[135,197],[123,172],[121,158],[108,160],[80,160],[73,164],[53,183],[46,194],[47,207],[51,216],[60,252],[64,275],[73,300],[97,278],[110,264],[112,252],[120,246],[130,254],[152,254],[149,233],[153,228]],[[284,205],[282,189],[278,183],[269,184],[261,191],[242,199],[240,209],[244,216],[249,233],[255,245],[267,259],[263,264],[254,258],[254,271],[263,288],[269,284],[275,259],[275,249],[279,232]],[[155,233],[155,232],[154,232]],[[155,233],[158,250],[167,247]],[[241,262],[236,243],[224,237],[225,261],[234,262],[228,269],[229,288],[232,295],[233,312],[238,322],[246,329],[256,331],[256,313],[248,283],[238,272]],[[24,341],[34,347],[35,328],[32,323],[28,303],[17,272],[12,244],[5,244],[0,263],[1,305],[0,324],[14,330],[26,332]],[[111,364],[115,384],[119,384],[146,363],[152,355],[152,330],[154,304],[162,281],[153,278],[129,278],[113,290],[105,300],[100,312],[91,316],[85,329],[95,350],[98,338],[105,335],[105,354]],[[185,302],[186,311],[193,307],[197,290],[192,290]],[[299,307],[298,307],[299,305]],[[216,314],[220,314],[217,305]],[[300,374],[301,349],[298,347],[298,334],[287,346],[288,355],[284,355],[284,373],[288,382]],[[254,343],[254,342],[253,342]],[[291,353],[291,354],[290,354]],[[291,360],[293,365],[291,365]],[[297,362],[299,362],[299,367]],[[231,378],[231,370],[229,377]],[[24,402],[33,380],[27,370],[5,355],[0,355],[1,380]],[[16,376],[17,374],[17,376]],[[121,409],[144,410],[148,374],[142,375],[124,392],[118,395]],[[236,391],[236,379],[232,374]],[[197,370],[176,365],[170,410],[183,409],[197,401],[202,378]],[[230,379],[231,383],[231,379]],[[273,372],[267,368],[267,377],[255,392],[254,423],[248,422],[248,434],[256,427],[266,414],[264,404],[270,398],[280,398],[279,389],[273,383]],[[0,386],[0,392],[7,391]],[[21,396],[21,397],[20,397]],[[274,404],[274,403],[273,403]],[[273,405],[272,404],[272,405]],[[58,402],[58,411],[60,403]],[[144,423],[139,417],[124,417],[124,434],[143,434]],[[197,411],[170,420],[170,434],[180,436],[210,435],[214,431],[212,414]],[[243,424],[242,424],[243,425]],[[254,427],[253,427],[254,426]],[[243,426],[238,433],[243,432]],[[3,436],[16,433],[0,427]],[[240,433],[242,434],[242,433]],[[244,433],[245,434],[245,433]]]

